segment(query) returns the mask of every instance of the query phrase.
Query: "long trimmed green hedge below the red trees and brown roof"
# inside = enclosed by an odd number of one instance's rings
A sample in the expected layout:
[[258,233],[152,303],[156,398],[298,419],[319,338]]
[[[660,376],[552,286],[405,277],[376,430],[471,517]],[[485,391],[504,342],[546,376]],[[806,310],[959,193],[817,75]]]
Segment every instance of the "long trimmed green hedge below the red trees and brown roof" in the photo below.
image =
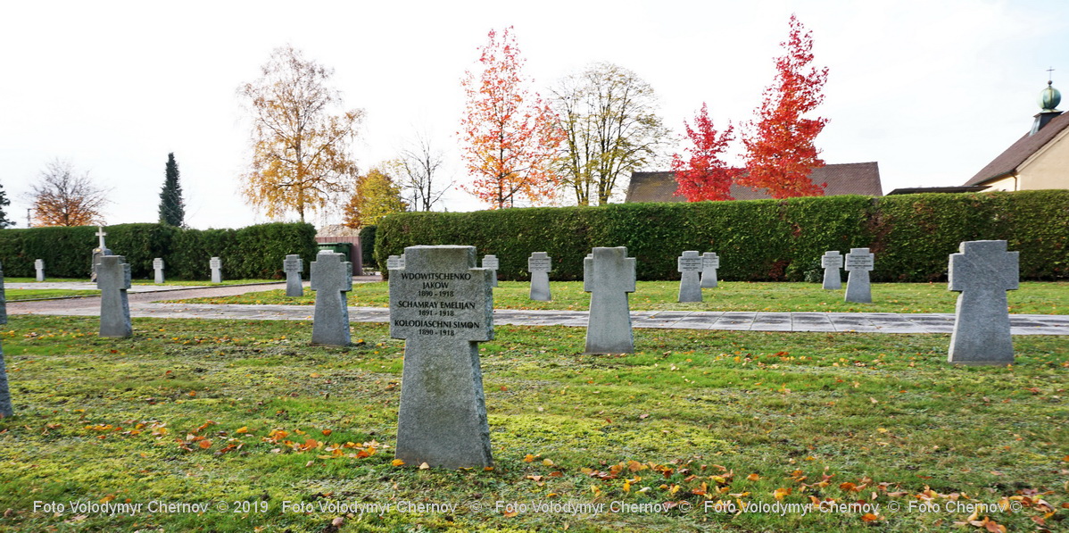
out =
[[869,247],[879,281],[946,279],[962,241],[1002,239],[1021,277],[1069,277],[1069,191],[832,196],[788,200],[624,203],[472,213],[396,213],[376,231],[379,264],[405,246],[464,244],[500,260],[502,279],[529,279],[546,252],[554,279],[583,278],[594,246],[626,246],[639,279],[679,279],[681,252],[716,252],[722,279],[802,280],[824,252]]

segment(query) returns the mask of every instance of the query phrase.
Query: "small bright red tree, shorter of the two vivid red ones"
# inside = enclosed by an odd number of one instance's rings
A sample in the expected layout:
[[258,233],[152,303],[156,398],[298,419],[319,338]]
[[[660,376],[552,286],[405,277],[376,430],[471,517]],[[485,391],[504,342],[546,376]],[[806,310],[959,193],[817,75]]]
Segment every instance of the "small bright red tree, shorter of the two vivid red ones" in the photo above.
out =
[[686,121],[683,121],[683,127],[694,148],[690,150],[691,157],[687,159],[679,154],[672,155],[671,169],[679,183],[676,195],[685,196],[686,201],[733,200],[731,181],[740,169],[731,168],[721,159],[721,154],[734,139],[731,124],[724,132],[717,132],[702,103],[701,109],[694,116],[694,127]]

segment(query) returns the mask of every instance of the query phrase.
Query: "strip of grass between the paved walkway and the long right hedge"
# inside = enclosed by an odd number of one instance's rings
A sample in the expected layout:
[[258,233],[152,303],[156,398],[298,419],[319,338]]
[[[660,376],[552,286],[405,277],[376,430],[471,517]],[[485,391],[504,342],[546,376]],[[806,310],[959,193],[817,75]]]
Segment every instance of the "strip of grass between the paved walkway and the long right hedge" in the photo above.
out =
[[[842,301],[843,290],[824,290],[817,284],[721,281],[715,289],[703,289],[702,303],[678,303],[679,283],[638,281],[631,294],[632,310],[737,310],[737,311],[843,311],[843,313],[954,313],[958,293],[946,284],[874,284],[871,304]],[[583,281],[551,284],[553,302],[529,299],[530,285],[500,281],[494,289],[494,307],[499,309],[577,309],[586,310],[590,294],[583,292]],[[1009,311],[1013,314],[1069,314],[1069,283],[1024,281],[1021,289],[1008,292]],[[315,292],[303,298],[286,298],[285,290],[251,292],[236,296],[184,300],[207,304],[292,304],[312,305]],[[387,307],[386,283],[354,284],[348,305]]]

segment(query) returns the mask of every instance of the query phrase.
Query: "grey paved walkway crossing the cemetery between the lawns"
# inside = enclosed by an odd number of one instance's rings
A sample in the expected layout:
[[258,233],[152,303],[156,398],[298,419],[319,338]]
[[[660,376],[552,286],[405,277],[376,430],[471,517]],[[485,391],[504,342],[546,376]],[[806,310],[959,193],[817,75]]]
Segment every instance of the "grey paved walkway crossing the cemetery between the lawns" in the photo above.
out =
[[[357,279],[359,281],[359,279]],[[306,283],[307,285],[307,283]],[[223,296],[279,289],[285,284],[182,288],[166,294],[129,295],[130,315],[155,318],[207,318],[241,320],[311,320],[310,305],[165,304],[158,300]],[[9,302],[10,315],[99,315],[99,298]],[[385,307],[350,307],[353,322],[387,322]],[[494,322],[514,325],[567,325],[585,328],[587,311],[496,309]],[[741,330],[764,332],[950,333],[952,314],[896,313],[744,313],[744,311],[632,311],[635,328],[680,330]],[[1069,335],[1069,315],[1011,315],[1013,335]]]

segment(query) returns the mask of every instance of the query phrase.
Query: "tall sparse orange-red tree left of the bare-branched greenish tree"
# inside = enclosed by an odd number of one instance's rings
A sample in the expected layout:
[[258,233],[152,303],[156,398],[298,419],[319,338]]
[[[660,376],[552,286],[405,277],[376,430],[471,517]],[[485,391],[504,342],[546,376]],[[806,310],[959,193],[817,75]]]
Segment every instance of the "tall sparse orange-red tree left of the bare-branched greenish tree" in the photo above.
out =
[[552,163],[562,140],[549,106],[528,89],[516,40],[506,28],[480,48],[481,72],[467,72],[461,119],[462,153],[475,177],[464,188],[491,204],[512,207],[517,197],[532,203],[553,198],[560,180]]

